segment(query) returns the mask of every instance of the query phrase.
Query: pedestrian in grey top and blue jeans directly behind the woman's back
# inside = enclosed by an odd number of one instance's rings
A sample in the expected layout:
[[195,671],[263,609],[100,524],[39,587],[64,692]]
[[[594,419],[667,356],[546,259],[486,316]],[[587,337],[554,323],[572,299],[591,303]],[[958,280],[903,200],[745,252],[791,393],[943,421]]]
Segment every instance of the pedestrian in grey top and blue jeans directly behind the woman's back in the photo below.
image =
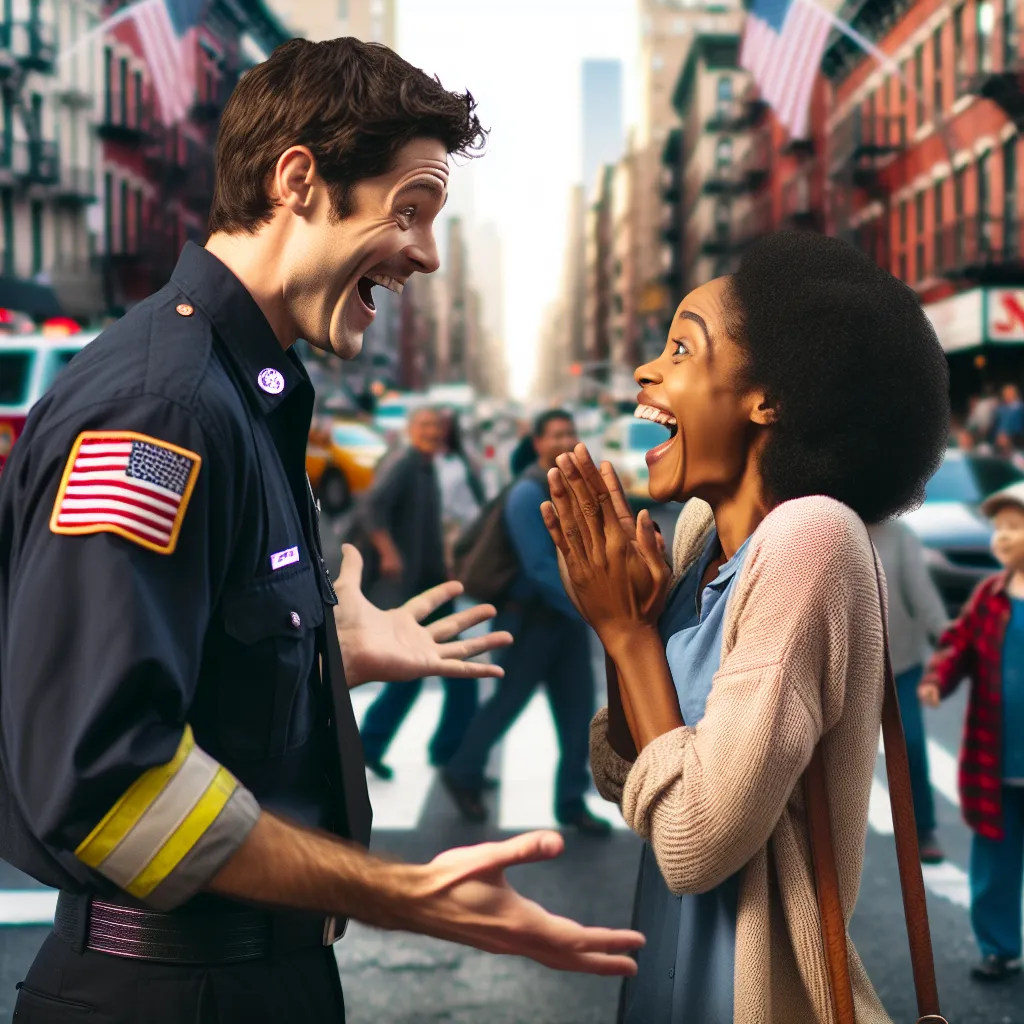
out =
[[927,646],[934,648],[938,644],[949,618],[925,564],[924,548],[906,523],[898,519],[871,523],[868,532],[886,573],[889,648],[910,763],[918,846],[924,863],[938,864],[944,854],[935,837],[935,799],[918,686],[924,674]]

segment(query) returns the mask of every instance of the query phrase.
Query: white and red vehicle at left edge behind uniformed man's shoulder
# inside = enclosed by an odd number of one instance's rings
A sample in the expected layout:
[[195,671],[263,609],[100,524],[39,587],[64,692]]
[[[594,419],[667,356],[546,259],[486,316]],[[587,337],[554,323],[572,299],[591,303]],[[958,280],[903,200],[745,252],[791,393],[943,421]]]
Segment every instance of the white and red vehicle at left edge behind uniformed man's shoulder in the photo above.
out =
[[42,334],[0,337],[0,471],[25,428],[29,410],[97,333],[83,331],[58,337]]

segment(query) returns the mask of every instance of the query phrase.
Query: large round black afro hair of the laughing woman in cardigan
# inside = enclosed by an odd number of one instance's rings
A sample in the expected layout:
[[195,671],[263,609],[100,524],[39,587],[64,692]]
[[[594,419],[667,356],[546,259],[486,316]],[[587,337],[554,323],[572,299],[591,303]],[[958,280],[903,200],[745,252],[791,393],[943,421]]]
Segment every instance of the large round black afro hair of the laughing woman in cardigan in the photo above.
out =
[[743,386],[777,414],[768,493],[827,495],[865,522],[920,505],[948,442],[949,368],[914,292],[812,231],[758,239],[729,289]]

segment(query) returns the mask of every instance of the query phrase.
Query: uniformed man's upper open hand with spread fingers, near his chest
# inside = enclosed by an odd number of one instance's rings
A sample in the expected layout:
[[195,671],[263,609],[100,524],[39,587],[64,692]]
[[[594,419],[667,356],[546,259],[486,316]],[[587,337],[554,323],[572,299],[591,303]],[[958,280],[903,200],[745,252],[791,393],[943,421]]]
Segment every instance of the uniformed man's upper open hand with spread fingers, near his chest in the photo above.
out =
[[441,584],[418,594],[400,608],[382,611],[360,589],[362,556],[350,544],[342,546],[341,554],[334,620],[350,687],[373,681],[408,682],[427,676],[500,679],[504,675],[497,665],[469,659],[508,646],[512,643],[511,633],[453,639],[494,618],[497,611],[493,605],[478,604],[424,626],[423,621],[432,612],[462,594],[462,584]]

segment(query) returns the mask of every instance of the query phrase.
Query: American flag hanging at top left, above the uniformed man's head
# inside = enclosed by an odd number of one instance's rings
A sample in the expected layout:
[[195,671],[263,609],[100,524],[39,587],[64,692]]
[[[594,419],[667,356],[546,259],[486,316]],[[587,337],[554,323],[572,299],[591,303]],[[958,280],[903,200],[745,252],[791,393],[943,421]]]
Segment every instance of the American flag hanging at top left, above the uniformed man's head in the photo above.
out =
[[207,0],[138,0],[125,13],[135,23],[153,76],[160,117],[168,127],[196,101],[198,26]]

